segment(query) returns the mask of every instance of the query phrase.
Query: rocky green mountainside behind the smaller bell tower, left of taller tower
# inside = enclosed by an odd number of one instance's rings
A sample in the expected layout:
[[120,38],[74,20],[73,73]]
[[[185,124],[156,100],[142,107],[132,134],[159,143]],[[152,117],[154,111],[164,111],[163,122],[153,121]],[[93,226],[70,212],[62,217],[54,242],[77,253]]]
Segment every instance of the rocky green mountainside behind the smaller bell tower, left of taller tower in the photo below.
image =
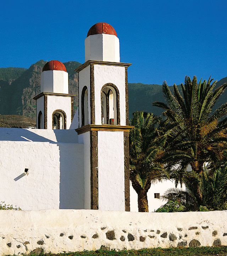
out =
[[[40,60],[19,72],[18,68],[0,69],[0,114],[18,114],[35,120],[36,102],[33,97],[40,93],[40,74],[45,63]],[[78,75],[74,69],[81,64],[72,61],[64,64],[69,76],[69,93],[78,94]],[[77,103],[78,98],[75,97],[75,110]]]

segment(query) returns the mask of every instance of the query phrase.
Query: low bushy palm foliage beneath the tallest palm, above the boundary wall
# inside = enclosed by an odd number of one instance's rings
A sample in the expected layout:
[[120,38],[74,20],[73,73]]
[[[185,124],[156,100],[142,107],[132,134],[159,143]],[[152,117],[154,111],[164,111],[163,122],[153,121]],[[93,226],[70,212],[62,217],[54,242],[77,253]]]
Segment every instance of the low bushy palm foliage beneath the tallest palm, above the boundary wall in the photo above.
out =
[[[226,156],[226,153],[224,153]],[[168,189],[162,196],[171,202],[180,202],[184,211],[227,209],[227,163],[218,169],[204,167],[201,174],[192,171],[183,178],[187,190]],[[199,188],[201,197],[195,187]],[[160,210],[159,210],[160,211]]]

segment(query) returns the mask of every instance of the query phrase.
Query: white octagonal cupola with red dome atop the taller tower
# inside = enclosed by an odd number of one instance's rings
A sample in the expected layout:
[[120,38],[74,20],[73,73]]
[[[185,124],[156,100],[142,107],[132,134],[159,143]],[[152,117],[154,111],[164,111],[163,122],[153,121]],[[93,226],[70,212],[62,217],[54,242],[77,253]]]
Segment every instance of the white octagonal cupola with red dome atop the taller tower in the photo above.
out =
[[85,62],[87,60],[120,62],[120,45],[115,29],[108,23],[93,25],[85,39]]

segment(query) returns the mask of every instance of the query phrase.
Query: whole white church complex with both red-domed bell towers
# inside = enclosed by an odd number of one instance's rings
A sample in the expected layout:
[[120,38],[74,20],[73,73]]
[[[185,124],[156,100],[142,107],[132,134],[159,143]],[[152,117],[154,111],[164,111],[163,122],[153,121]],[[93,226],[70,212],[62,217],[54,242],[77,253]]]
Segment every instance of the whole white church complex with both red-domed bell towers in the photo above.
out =
[[[23,210],[100,209],[138,211],[129,182],[128,78],[117,33],[96,23],[85,39],[79,105],[73,117],[68,73],[46,63],[37,102],[37,129],[0,128],[0,201]],[[149,211],[174,182],[148,192]]]

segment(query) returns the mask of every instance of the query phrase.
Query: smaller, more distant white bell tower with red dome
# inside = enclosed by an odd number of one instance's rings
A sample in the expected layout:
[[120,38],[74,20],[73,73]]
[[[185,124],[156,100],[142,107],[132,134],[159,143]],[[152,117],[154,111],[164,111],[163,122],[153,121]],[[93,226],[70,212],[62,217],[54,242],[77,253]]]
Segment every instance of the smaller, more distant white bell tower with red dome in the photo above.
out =
[[69,129],[74,96],[68,94],[65,65],[58,60],[47,62],[41,73],[41,93],[34,97],[37,129]]

